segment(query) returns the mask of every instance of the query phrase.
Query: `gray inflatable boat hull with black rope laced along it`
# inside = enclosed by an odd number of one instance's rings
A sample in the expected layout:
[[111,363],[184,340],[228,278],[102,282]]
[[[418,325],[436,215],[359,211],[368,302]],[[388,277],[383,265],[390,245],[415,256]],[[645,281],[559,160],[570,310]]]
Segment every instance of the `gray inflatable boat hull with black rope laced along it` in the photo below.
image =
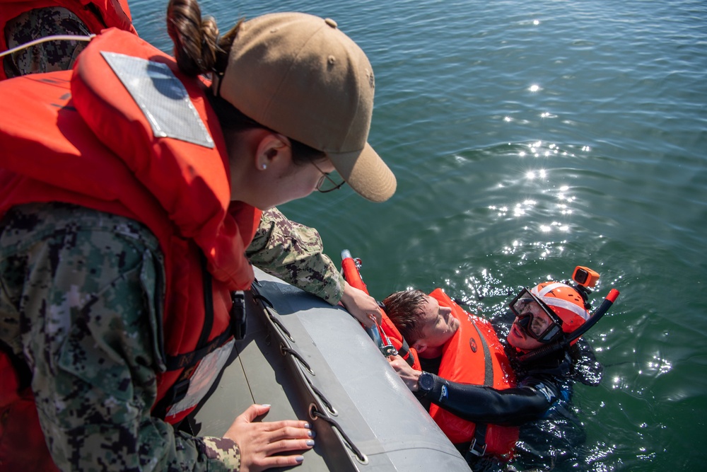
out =
[[314,449],[293,470],[464,471],[468,466],[339,306],[256,269],[247,334],[194,415],[194,432],[221,436],[252,403],[265,420],[308,420]]

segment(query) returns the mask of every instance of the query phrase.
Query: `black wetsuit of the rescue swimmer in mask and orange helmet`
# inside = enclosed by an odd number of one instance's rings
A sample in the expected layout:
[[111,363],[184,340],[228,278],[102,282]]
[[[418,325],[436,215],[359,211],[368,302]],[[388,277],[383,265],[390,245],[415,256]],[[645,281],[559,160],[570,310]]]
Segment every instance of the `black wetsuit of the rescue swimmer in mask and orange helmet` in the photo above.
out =
[[[477,425],[522,426],[517,452],[520,449],[522,453],[524,447],[531,449],[537,456],[534,459],[539,459],[541,463],[546,454],[542,451],[543,447],[549,446],[553,450],[564,447],[570,450],[584,442],[583,428],[569,402],[575,381],[588,385],[598,385],[601,381],[602,366],[595,359],[591,347],[580,339],[571,350],[527,364],[518,362],[515,350],[507,348],[506,352],[516,374],[517,386],[503,390],[442,379],[436,375],[439,372],[440,357],[420,359],[422,369],[435,374],[435,384],[426,395],[416,393],[419,401],[427,409],[431,403],[435,403]],[[543,427],[540,425],[542,422],[536,420],[549,420],[554,423],[554,427]],[[561,431],[558,431],[557,425]],[[538,439],[539,436],[547,436],[548,432],[551,437]],[[483,440],[483,437],[477,437],[477,440]],[[527,447],[530,443],[532,446]],[[467,457],[472,468],[477,468],[479,457],[469,454],[469,444],[456,446]],[[478,451],[479,445],[475,447]],[[483,468],[492,470],[488,464],[484,464]]]

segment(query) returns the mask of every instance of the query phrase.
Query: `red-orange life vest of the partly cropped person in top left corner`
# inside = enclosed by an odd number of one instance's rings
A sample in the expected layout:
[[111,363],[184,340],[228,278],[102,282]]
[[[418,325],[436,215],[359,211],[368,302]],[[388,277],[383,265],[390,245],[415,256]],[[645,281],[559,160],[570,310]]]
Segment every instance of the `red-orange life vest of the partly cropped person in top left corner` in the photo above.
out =
[[[137,34],[127,0],[0,0],[0,51],[8,50],[5,25],[8,21],[35,8],[63,6],[78,16],[91,33],[105,28],[119,28]],[[7,79],[0,58],[0,81]]]

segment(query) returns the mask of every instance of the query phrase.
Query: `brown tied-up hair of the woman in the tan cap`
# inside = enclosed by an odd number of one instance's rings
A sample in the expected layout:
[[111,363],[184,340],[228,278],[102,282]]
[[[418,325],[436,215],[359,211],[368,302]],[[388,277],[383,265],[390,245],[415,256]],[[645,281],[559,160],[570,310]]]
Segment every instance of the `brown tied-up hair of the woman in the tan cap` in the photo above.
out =
[[[233,40],[243,18],[223,36],[218,35],[216,20],[201,18],[201,8],[197,0],[170,0],[167,6],[167,32],[174,43],[177,67],[187,76],[200,74],[223,74],[228,65]],[[246,129],[262,128],[276,133],[274,129],[252,120],[220,96],[209,94],[209,103],[218,116],[224,134],[243,132]],[[323,151],[288,137],[292,148],[292,161],[296,166],[322,161]]]

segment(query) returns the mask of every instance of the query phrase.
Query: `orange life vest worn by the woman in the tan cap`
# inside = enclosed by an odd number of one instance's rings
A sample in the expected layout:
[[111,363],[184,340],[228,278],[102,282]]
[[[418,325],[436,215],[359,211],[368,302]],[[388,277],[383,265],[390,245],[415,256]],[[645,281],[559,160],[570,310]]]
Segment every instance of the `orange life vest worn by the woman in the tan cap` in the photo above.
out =
[[[156,137],[105,52],[164,64],[185,87],[212,146]],[[172,57],[115,28],[90,42],[73,73],[0,82],[0,217],[23,203],[66,202],[141,221],[157,236],[165,256],[167,370],[158,374],[159,413],[153,408],[153,414],[173,423],[200,399],[198,393],[189,398],[188,388],[199,359],[233,338],[231,291],[248,289],[253,280],[245,248],[260,219],[259,210],[230,202],[228,153],[205,93],[205,84],[180,74]],[[1,422],[0,451],[19,457],[24,438],[17,435],[19,449],[12,449],[10,433],[33,430],[31,413],[35,431],[39,425],[26,402],[13,410],[13,400],[26,401],[28,389],[12,391],[8,384],[0,389],[0,413],[14,423]]]

